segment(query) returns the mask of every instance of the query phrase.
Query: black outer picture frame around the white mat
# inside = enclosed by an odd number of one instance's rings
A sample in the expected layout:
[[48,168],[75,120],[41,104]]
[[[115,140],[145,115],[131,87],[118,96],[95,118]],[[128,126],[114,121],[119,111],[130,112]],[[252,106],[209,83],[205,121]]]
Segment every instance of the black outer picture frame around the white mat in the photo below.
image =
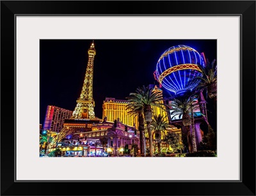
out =
[[[241,16],[241,181],[15,181],[17,15]],[[255,1],[1,1],[1,195],[255,195],[255,24]]]

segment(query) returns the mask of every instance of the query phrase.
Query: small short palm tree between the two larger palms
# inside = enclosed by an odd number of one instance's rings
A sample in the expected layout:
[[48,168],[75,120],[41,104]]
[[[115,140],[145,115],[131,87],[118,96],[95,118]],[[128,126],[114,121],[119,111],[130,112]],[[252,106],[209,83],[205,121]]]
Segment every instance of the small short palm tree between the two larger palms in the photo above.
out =
[[166,117],[161,116],[159,114],[158,116],[154,115],[152,119],[152,129],[155,130],[155,139],[157,142],[157,149],[158,153],[160,153],[160,143],[161,143],[161,137],[162,137],[162,132],[167,130],[168,128],[171,128],[171,125],[166,121]]

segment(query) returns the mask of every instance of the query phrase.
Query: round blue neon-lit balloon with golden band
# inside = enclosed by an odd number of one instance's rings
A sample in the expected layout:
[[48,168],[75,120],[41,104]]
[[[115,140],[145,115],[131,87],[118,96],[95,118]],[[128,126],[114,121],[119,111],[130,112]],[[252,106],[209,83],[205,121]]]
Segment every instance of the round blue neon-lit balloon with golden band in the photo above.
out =
[[154,77],[168,91],[182,94],[192,91],[200,82],[198,80],[195,84],[189,84],[189,80],[202,75],[198,65],[204,65],[204,60],[195,49],[186,45],[177,45],[165,50],[161,55],[157,61]]

